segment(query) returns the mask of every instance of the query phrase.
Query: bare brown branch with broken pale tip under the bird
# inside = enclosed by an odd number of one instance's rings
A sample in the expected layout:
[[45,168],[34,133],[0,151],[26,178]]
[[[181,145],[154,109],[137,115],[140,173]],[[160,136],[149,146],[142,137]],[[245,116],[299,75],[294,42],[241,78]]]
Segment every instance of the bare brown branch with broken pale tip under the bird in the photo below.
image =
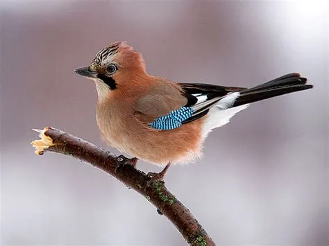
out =
[[[126,186],[137,191],[151,202],[159,213],[166,216],[178,229],[189,245],[214,245],[192,213],[170,192],[165,182],[153,182],[148,186],[149,177],[129,164],[132,159],[123,155],[115,157],[108,150],[103,150],[94,144],[78,139],[71,134],[55,128],[36,130],[40,139],[32,142],[37,155],[44,152],[58,152],[70,155],[112,175]],[[120,165],[119,168],[117,166]]]

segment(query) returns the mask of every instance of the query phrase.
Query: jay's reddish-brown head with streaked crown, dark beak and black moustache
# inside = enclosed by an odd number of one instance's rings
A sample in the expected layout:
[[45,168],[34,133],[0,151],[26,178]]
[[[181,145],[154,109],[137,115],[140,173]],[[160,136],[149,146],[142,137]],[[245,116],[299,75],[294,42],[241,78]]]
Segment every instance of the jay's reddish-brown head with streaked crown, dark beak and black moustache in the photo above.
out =
[[99,98],[110,91],[125,89],[130,83],[144,76],[145,63],[142,55],[126,42],[115,42],[101,49],[88,67],[75,69],[81,76],[96,82]]

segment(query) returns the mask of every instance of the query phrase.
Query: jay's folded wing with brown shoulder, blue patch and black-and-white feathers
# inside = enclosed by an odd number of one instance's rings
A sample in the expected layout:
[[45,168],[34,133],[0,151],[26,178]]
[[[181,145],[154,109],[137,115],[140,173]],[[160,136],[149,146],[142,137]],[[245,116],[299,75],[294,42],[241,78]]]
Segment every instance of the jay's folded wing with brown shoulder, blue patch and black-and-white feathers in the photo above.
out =
[[207,114],[223,96],[244,89],[188,83],[166,86],[142,96],[135,106],[137,118],[157,130],[172,130],[195,121]]

